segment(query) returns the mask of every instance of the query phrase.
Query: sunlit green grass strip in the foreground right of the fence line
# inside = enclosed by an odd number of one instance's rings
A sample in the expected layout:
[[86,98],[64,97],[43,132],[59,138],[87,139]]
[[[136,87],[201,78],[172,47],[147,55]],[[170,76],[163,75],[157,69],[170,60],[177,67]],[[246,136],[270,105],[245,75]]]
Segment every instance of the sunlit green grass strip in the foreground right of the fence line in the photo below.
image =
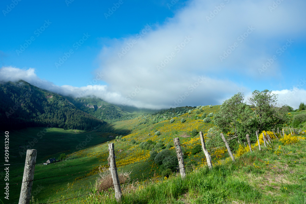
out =
[[[292,153],[282,156],[274,154],[278,145],[273,150],[248,152],[235,163],[223,161],[212,170],[200,168],[184,180],[173,176],[158,183],[140,183],[130,193],[123,189],[121,203],[304,203],[306,141],[284,146],[284,152]],[[87,201],[117,204],[113,192],[92,195]]]

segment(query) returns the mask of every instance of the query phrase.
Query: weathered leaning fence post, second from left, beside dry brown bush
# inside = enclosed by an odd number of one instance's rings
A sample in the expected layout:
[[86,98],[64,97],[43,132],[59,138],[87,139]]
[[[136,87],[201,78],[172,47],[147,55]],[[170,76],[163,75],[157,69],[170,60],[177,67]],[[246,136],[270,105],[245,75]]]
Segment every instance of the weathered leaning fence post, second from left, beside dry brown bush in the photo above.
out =
[[115,160],[115,149],[114,149],[114,143],[108,144],[108,151],[110,152],[110,156],[108,156],[108,165],[110,169],[110,173],[113,178],[113,183],[115,187],[115,198],[117,202],[120,202],[122,199],[122,192],[121,192],[121,187],[120,187],[120,182],[119,182],[119,177],[117,173],[117,167],[116,167],[116,160]]

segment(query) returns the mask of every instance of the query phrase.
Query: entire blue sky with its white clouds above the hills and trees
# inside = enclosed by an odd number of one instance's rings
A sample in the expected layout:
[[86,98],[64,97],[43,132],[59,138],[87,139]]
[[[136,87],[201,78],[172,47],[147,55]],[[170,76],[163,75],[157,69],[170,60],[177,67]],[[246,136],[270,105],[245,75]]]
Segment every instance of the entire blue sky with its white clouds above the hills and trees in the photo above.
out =
[[2,81],[147,108],[264,89],[280,104],[306,102],[301,0],[11,0],[0,9]]

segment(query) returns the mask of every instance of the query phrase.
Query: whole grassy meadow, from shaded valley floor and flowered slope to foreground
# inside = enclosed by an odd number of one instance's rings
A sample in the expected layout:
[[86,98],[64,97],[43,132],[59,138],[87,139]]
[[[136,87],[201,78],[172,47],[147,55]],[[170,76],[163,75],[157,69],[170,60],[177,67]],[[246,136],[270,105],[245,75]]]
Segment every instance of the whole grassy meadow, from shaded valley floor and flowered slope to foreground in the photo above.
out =
[[[167,118],[161,117],[159,122],[154,124],[151,123],[154,118],[151,114],[142,114],[131,120],[117,121],[87,132],[47,128],[47,133],[33,146],[38,153],[34,179],[39,180],[33,182],[34,200],[31,203],[54,202],[90,193],[99,177],[99,167],[107,170],[109,143],[114,143],[118,173],[130,172],[131,180],[142,179],[134,182],[133,185],[122,187],[123,203],[232,203],[233,201],[236,203],[293,203],[291,200],[301,200],[303,197],[300,194],[305,193],[305,180],[293,182],[293,179],[299,176],[304,178],[305,140],[300,139],[297,144],[285,145],[275,140],[271,149],[262,147],[262,152],[252,153],[248,152],[248,148],[243,145],[235,152],[235,156],[238,157],[236,163],[229,160],[225,149],[216,149],[210,152],[214,164],[213,171],[206,169],[206,158],[203,152],[191,153],[191,149],[196,144],[200,144],[199,134],[193,137],[192,130],[196,129],[205,134],[214,126],[214,117],[211,117],[211,122],[206,123],[201,118],[202,114],[216,113],[218,110],[219,106],[203,106],[202,110],[196,109],[191,113],[173,117],[172,123]],[[181,122],[182,118],[186,121]],[[13,151],[10,158],[12,162],[18,164],[10,168],[10,184],[22,181],[24,168],[22,163],[25,159],[25,156],[20,156],[19,153],[23,149],[22,146],[37,138],[37,133],[43,129],[28,128],[10,132],[10,148]],[[155,135],[156,131],[160,131],[161,134]],[[88,135],[91,135],[91,139],[86,142]],[[124,140],[115,140],[115,137],[119,135],[123,135]],[[185,149],[185,165],[194,165],[186,167],[188,175],[184,181],[176,176],[163,178],[158,165],[150,161],[150,150],[141,149],[138,145],[147,140],[154,142],[161,140],[164,148],[170,144],[167,148],[174,151],[174,147],[171,146],[175,137],[180,138],[181,146]],[[274,136],[271,135],[271,137]],[[133,143],[133,140],[136,140],[138,144]],[[261,143],[263,143],[262,136]],[[253,148],[257,149],[256,144],[253,144]],[[275,151],[291,153],[276,155]],[[42,165],[50,158],[57,159],[61,153],[68,156],[65,161]],[[3,176],[3,171],[1,173]],[[58,175],[67,176],[40,179]],[[150,180],[150,178],[145,179],[146,177],[153,178]],[[267,179],[272,182],[269,184],[270,187],[266,185]],[[294,185],[299,187],[294,193],[281,191],[283,187],[292,189]],[[18,202],[20,189],[21,184],[11,187],[10,201],[12,203]],[[269,196],[271,199],[268,199]],[[116,203],[113,197],[114,192],[110,190],[99,196],[88,194],[56,203]]]

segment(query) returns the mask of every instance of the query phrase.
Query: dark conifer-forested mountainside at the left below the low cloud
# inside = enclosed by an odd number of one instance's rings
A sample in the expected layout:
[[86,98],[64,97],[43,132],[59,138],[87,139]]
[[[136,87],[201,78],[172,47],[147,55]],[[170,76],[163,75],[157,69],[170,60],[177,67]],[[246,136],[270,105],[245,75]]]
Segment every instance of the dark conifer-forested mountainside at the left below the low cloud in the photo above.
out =
[[88,130],[106,123],[78,109],[67,98],[25,81],[0,84],[0,128],[50,126]]

